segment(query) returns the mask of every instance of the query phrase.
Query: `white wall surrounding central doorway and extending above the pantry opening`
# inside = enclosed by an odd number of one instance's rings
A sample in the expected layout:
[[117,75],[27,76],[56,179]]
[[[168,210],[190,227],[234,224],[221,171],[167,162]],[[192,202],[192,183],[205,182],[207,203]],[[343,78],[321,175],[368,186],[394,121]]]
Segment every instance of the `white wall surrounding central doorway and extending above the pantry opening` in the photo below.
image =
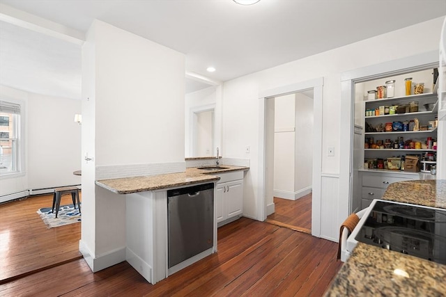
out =
[[[323,135],[322,172],[339,175],[341,74],[343,72],[392,61],[405,56],[413,56],[426,51],[438,50],[440,29],[443,17],[416,24],[398,31],[369,38],[321,54],[302,58],[298,61],[272,67],[268,70],[249,74],[245,77],[226,81],[223,92],[223,139],[226,156],[247,157],[245,146],[251,147],[250,170],[245,182],[244,214],[257,217],[256,205],[261,202],[258,196],[259,169],[259,93],[280,86],[287,86],[318,77],[324,78],[323,86]],[[421,42],[413,42],[413,36],[422,36]],[[335,156],[327,156],[328,147],[334,147]],[[334,188],[337,188],[334,186]],[[321,191],[321,193],[328,193]],[[272,199],[272,198],[271,198]],[[321,197],[321,203],[324,199]],[[348,200],[348,197],[340,198]],[[267,204],[269,202],[267,201]],[[348,205],[348,203],[347,203]],[[332,216],[332,214],[321,214]],[[340,222],[341,223],[341,222]],[[324,228],[321,228],[325,230]],[[335,239],[337,234],[320,234]]]

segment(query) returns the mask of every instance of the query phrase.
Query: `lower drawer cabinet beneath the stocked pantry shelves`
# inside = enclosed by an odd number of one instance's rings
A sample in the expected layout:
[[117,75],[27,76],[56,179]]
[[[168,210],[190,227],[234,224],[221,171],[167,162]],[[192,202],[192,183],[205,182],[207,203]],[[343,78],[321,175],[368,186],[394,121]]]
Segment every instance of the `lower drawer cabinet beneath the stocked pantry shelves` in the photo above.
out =
[[383,198],[385,189],[389,184],[411,179],[420,179],[418,172],[360,171],[360,182],[362,186],[361,209],[369,207],[372,200]]

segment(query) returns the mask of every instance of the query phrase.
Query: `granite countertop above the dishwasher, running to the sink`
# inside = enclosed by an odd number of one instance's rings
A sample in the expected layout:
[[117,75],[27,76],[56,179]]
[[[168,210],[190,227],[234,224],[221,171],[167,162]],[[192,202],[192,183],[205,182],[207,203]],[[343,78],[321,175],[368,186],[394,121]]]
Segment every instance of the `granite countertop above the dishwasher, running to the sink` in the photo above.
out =
[[249,167],[221,166],[226,169],[205,171],[198,168],[186,168],[186,172],[169,173],[166,175],[103,179],[96,181],[95,184],[116,194],[130,194],[160,190],[162,188],[174,188],[176,186],[186,186],[202,182],[214,182],[220,179],[220,177],[213,175],[215,173],[249,170]]

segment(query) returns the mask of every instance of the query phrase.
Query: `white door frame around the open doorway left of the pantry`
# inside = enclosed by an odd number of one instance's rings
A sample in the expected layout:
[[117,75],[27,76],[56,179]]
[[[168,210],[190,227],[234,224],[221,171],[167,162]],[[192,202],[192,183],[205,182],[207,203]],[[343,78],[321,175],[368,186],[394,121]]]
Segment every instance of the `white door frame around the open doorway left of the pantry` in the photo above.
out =
[[[274,149],[271,149],[271,143],[274,143],[271,138],[274,137],[274,134],[271,133],[273,130],[270,129],[271,126],[274,127],[274,122],[271,123],[270,117],[268,118],[268,99],[309,89],[314,90],[312,235],[319,237],[321,235],[323,77],[264,90],[259,94],[259,203],[257,204],[257,220],[266,220],[267,197],[272,195],[272,182],[268,181],[271,181],[271,176],[274,173],[274,170],[268,170],[268,168],[272,168],[271,159],[274,156]],[[274,161],[272,160],[272,162]]]

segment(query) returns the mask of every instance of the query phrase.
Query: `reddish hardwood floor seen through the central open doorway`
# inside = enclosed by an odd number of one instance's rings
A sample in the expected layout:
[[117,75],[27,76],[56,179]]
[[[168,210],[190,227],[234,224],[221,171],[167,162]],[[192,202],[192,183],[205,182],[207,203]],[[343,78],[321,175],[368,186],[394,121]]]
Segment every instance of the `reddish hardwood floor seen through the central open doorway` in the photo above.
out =
[[267,222],[290,227],[305,233],[312,233],[312,193],[298,200],[274,198],[275,213],[270,214]]

